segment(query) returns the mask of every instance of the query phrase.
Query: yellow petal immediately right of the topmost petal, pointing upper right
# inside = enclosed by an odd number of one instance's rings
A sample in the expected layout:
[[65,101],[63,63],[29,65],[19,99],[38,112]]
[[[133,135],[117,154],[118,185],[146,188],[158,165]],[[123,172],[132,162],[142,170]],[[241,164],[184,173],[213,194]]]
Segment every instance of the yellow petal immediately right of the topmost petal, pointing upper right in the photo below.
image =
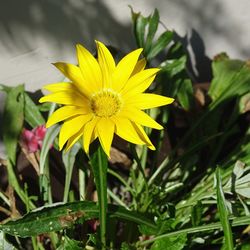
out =
[[122,60],[117,64],[112,80],[112,87],[117,92],[119,92],[128,81],[136,66],[141,52],[142,49],[134,50],[123,57]]

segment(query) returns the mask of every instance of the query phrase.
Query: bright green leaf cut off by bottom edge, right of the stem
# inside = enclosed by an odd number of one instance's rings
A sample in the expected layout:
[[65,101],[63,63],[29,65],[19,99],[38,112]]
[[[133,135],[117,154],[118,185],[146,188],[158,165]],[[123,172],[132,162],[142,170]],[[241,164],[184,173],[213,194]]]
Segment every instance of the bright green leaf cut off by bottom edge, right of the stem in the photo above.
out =
[[187,234],[179,234],[178,236],[159,239],[154,242],[150,250],[181,250],[187,241]]

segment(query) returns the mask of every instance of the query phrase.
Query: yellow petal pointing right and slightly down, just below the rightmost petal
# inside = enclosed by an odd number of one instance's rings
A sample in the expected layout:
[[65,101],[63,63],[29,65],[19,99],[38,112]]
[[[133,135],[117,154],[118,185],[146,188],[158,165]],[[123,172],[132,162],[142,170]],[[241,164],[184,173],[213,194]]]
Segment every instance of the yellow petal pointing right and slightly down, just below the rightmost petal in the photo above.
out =
[[139,109],[135,108],[124,109],[119,113],[119,116],[126,117],[129,120],[146,127],[163,129],[163,127],[159,123],[157,123],[149,115],[147,115],[146,113],[144,113]]

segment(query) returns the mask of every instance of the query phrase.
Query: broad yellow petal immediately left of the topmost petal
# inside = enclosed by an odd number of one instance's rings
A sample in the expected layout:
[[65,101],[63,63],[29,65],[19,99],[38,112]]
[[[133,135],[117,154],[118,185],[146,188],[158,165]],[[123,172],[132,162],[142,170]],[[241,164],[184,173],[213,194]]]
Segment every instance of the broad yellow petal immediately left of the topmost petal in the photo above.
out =
[[81,44],[76,45],[76,53],[87,87],[92,88],[95,92],[99,91],[102,87],[102,73],[98,62]]

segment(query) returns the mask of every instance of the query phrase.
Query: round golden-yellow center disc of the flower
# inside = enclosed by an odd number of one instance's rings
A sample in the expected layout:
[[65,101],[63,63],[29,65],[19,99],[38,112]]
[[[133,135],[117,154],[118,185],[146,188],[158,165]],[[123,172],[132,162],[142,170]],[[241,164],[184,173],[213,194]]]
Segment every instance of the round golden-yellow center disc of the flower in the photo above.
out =
[[111,89],[104,89],[95,93],[90,101],[93,113],[100,117],[115,115],[121,108],[121,99]]

